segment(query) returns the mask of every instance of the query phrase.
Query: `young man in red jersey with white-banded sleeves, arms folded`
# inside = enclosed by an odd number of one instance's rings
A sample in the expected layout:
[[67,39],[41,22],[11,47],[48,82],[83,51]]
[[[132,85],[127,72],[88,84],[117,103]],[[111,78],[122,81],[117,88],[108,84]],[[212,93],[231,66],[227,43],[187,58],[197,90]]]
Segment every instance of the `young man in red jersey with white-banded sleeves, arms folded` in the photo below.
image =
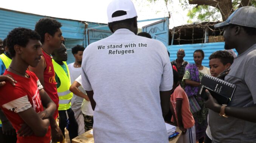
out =
[[[17,143],[49,143],[49,117],[56,105],[36,75],[27,71],[29,65],[37,66],[42,56],[40,36],[30,29],[15,28],[7,38],[12,62],[4,75],[11,75],[17,83],[13,86],[7,82],[0,88],[0,107],[17,131]],[[24,124],[31,131],[22,131]]]

